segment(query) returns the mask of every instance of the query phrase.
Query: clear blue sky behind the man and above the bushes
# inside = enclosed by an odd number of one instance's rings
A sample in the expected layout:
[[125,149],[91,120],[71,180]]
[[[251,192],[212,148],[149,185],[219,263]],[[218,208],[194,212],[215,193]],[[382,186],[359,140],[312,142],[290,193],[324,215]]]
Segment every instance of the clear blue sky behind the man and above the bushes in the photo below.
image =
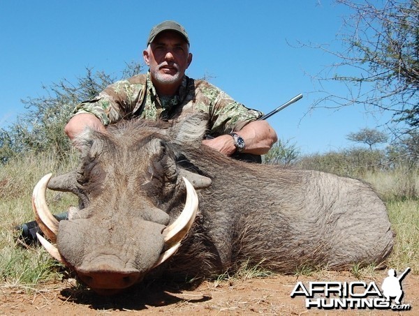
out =
[[[311,76],[334,60],[299,43],[339,49],[345,15],[331,0],[0,1],[0,128],[27,111],[21,99],[43,96],[43,85],[75,82],[87,67],[119,77],[126,63],[142,61],[154,24],[177,20],[191,38],[190,77],[211,75],[235,100],[265,113],[302,93],[269,119],[279,137],[302,153],[342,149],[353,144],[348,133],[388,117],[356,107],[308,112],[320,97]],[[343,85],[330,89],[346,93]]]

